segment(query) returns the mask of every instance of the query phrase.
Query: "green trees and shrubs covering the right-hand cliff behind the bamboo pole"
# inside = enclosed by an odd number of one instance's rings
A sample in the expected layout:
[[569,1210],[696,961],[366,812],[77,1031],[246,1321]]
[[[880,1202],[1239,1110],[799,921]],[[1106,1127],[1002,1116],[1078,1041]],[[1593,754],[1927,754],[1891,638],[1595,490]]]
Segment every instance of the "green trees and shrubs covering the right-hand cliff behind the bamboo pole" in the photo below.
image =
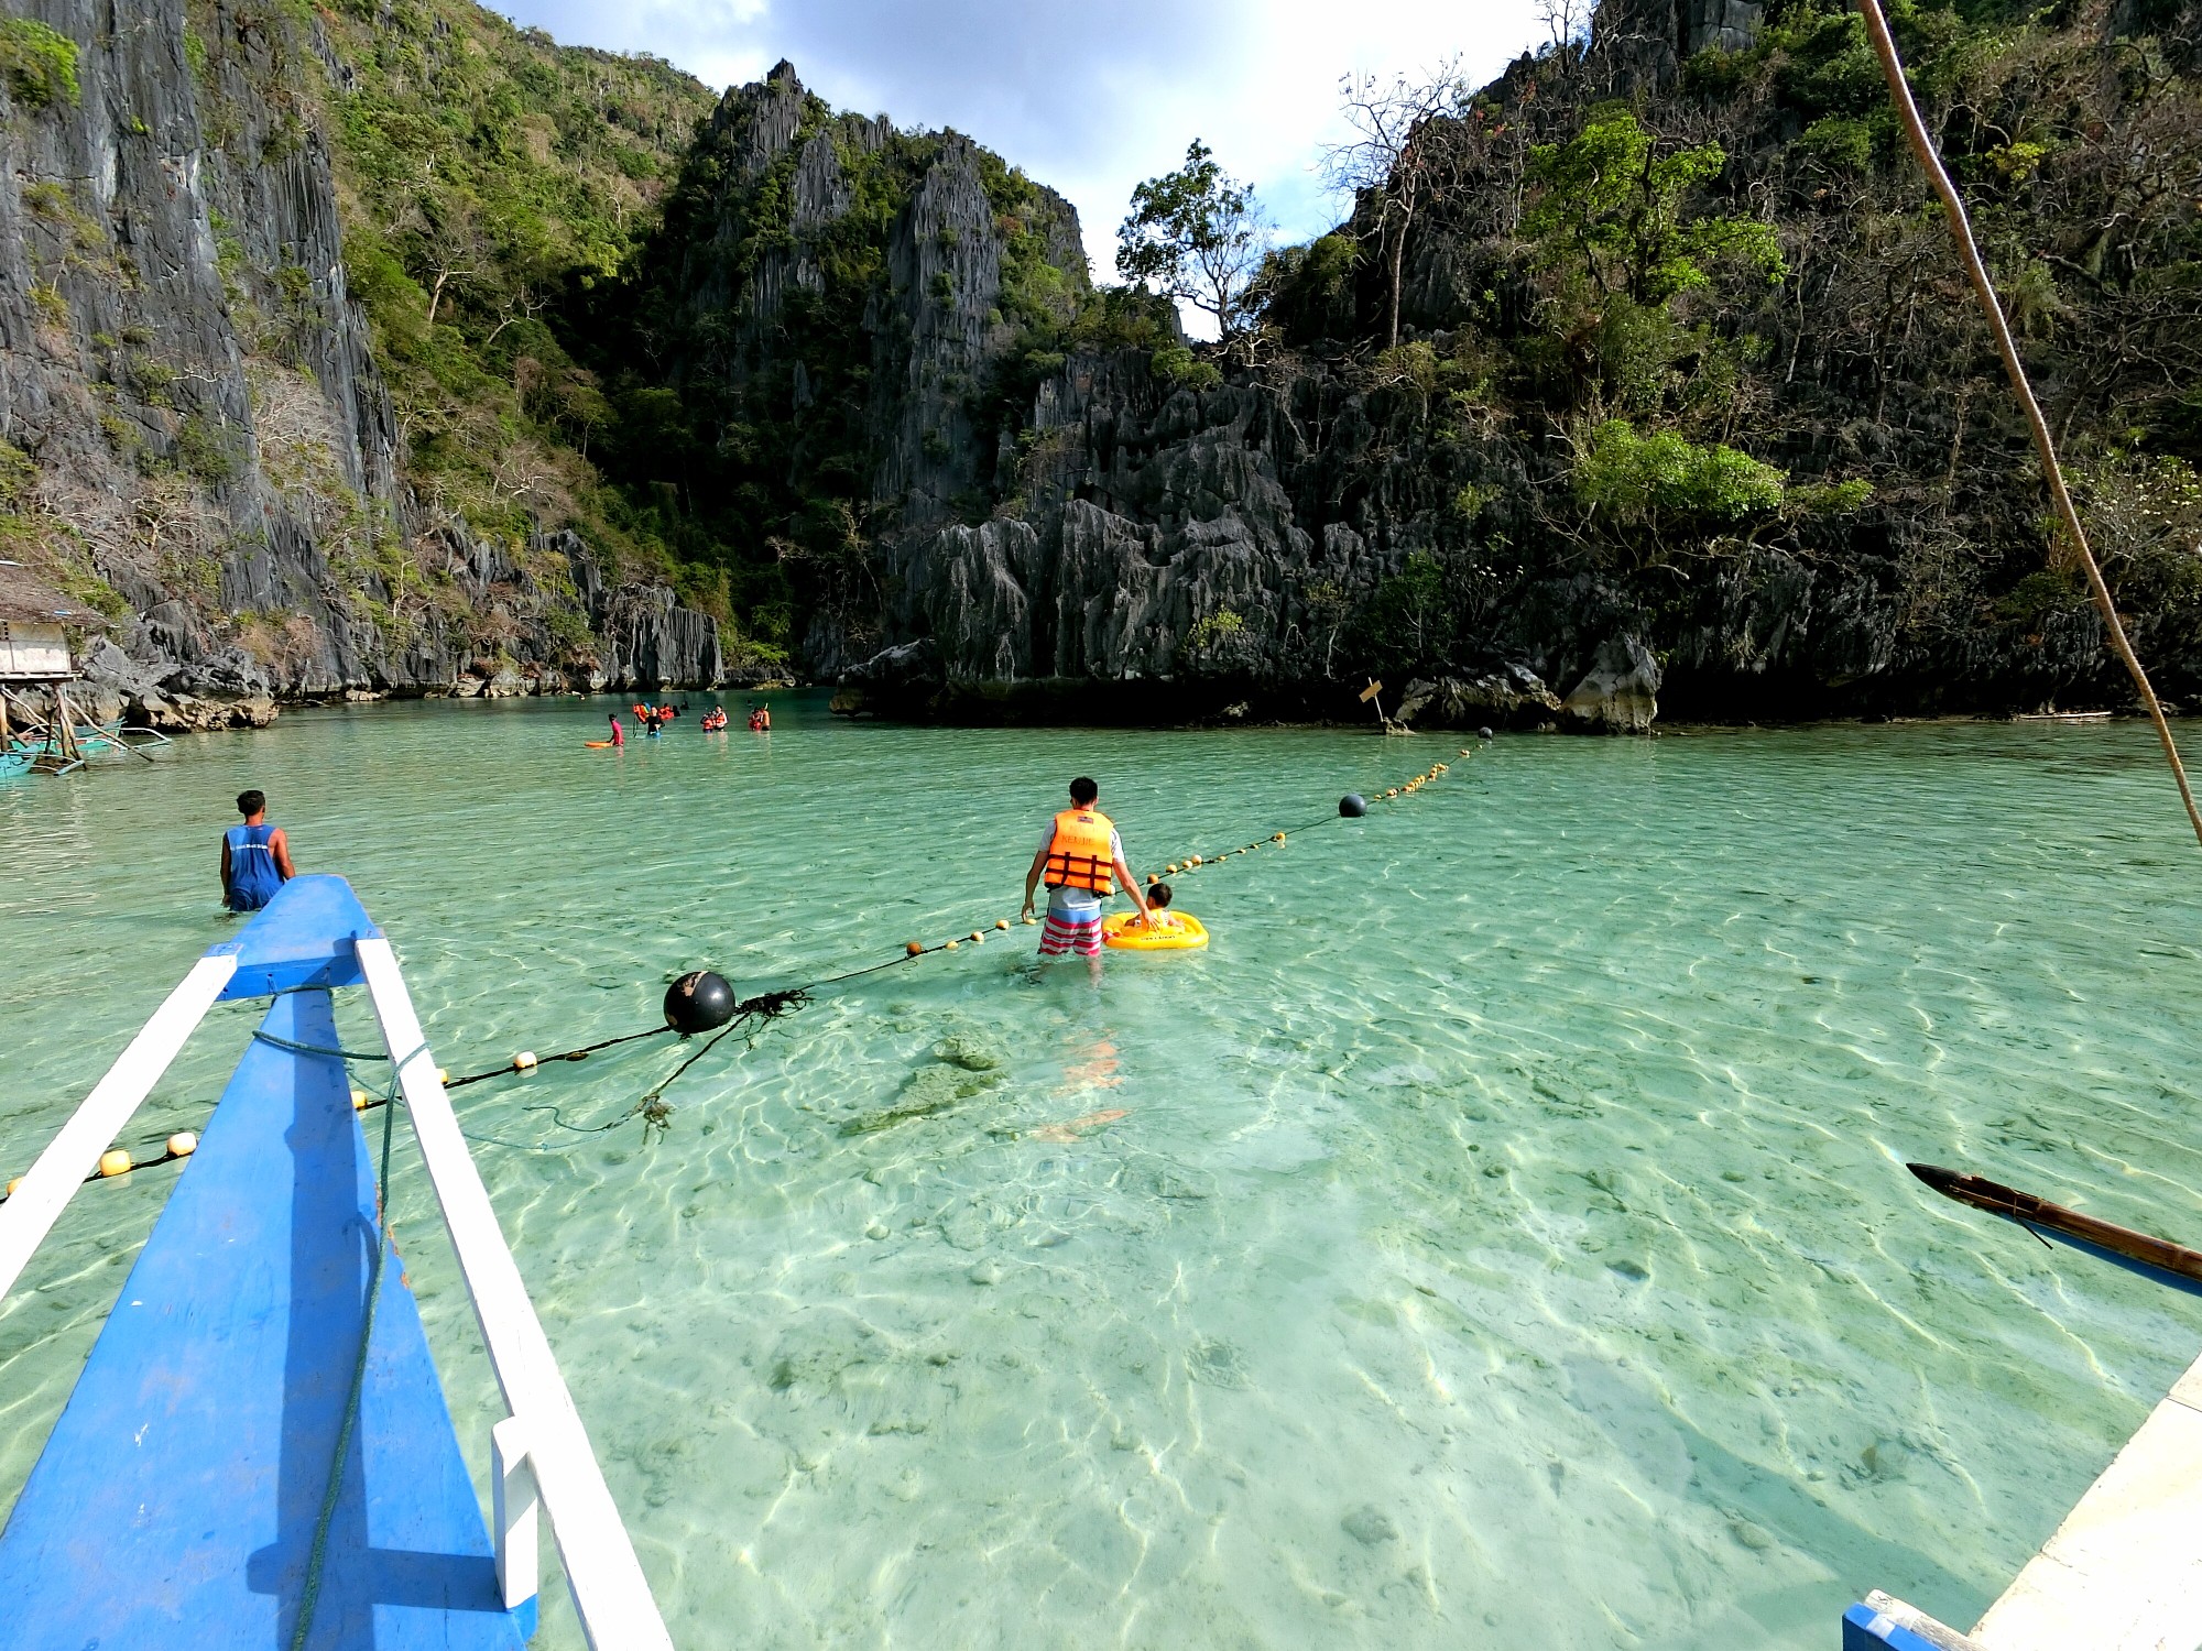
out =
[[[1742,51],[1660,62],[1682,11],[1605,0],[1588,42],[1420,128],[1405,317],[1422,359],[1381,348],[1383,189],[1271,258],[1253,354],[1321,359],[1385,431],[1365,482],[1383,517],[1363,526],[1431,546],[1469,656],[1519,645],[1508,586],[1621,579],[1656,632],[1764,548],[1889,592],[1922,654],[2083,616],[2046,566],[2024,427],[1854,9],[1768,0]],[[1892,13],[2099,520],[2107,478],[2184,484],[2202,462],[2182,183],[2202,170],[2202,15]],[[1475,511],[1453,509],[1462,486]],[[2121,572],[2160,649],[2202,632],[2195,557],[2167,537]],[[1356,667],[1447,663],[1378,619]]]

